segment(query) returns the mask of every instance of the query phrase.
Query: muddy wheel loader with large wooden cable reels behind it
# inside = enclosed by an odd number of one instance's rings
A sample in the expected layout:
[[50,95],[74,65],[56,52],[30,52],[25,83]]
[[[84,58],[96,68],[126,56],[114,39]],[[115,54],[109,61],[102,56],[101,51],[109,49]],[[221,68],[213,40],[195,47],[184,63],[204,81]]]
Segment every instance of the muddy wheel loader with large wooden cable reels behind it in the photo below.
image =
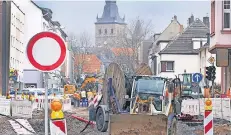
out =
[[[130,75],[131,76],[131,75]],[[97,129],[110,135],[176,135],[179,78],[151,75],[143,64],[131,78],[110,63],[104,77],[100,104],[95,108]]]

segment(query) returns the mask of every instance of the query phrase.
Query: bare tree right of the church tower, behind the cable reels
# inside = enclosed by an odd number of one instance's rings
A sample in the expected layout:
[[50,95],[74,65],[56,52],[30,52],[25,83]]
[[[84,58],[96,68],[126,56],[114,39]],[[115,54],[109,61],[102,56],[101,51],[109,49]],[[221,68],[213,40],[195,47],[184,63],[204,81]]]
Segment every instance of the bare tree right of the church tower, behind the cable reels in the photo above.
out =
[[123,49],[120,57],[116,58],[117,61],[123,62],[123,65],[126,64],[131,70],[130,72],[134,73],[135,68],[139,64],[138,55],[141,44],[144,40],[151,37],[151,34],[151,21],[144,21],[139,19],[139,17],[132,20],[126,27],[125,34],[121,34],[117,39],[120,41],[121,49]]

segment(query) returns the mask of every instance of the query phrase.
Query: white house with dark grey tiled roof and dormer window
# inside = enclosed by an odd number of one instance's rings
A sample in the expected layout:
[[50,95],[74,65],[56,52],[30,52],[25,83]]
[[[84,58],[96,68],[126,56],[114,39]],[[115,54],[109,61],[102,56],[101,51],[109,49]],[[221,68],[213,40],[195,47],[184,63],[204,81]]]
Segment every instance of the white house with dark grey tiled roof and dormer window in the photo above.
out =
[[199,18],[191,16],[189,26],[159,52],[158,75],[174,78],[175,75],[200,73],[199,49],[207,43],[209,27]]

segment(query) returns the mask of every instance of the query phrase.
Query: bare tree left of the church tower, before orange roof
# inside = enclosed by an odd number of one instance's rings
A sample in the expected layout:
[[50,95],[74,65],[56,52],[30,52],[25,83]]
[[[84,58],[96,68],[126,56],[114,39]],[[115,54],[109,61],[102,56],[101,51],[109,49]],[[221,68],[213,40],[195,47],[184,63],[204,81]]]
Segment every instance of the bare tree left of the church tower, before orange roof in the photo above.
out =
[[82,32],[79,35],[70,33],[68,37],[75,57],[74,74],[78,80],[83,73],[83,66],[86,63],[86,54],[89,53],[89,49],[92,47],[91,37],[87,32]]

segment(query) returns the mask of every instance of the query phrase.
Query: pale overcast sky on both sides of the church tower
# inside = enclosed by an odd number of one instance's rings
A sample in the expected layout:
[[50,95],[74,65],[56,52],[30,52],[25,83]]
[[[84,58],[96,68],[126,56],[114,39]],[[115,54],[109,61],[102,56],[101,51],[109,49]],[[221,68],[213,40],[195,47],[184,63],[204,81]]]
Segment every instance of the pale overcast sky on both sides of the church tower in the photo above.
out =
[[[76,34],[87,31],[94,37],[94,22],[97,14],[101,17],[104,1],[35,1],[39,6],[53,11],[53,20],[65,26],[65,31]],[[126,22],[139,18],[152,20],[153,32],[162,32],[174,15],[184,27],[187,18],[193,14],[202,18],[210,13],[210,1],[119,1],[120,16],[125,15]]]

